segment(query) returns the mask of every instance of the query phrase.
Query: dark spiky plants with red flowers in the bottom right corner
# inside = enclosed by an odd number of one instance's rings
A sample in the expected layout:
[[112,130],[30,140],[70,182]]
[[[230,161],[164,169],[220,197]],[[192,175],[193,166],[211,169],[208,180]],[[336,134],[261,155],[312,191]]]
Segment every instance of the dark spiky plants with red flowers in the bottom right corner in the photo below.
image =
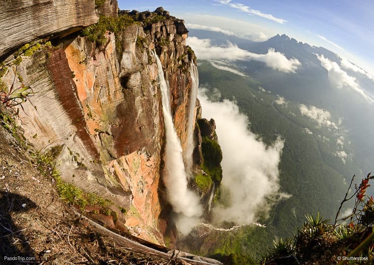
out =
[[[298,228],[293,239],[278,239],[262,264],[336,264],[339,257],[362,257],[362,260],[352,259],[354,264],[372,264],[374,261],[374,201],[372,196],[365,194],[370,180],[370,173],[362,179],[355,192],[348,197],[351,185],[341,202],[354,198],[355,203],[351,214],[340,220],[338,210],[335,223],[323,220],[319,215],[306,215],[307,222]],[[349,223],[338,221],[349,220]],[[343,260],[344,261],[344,260]],[[339,264],[345,263],[339,262]],[[342,263],[343,262],[343,263]]]

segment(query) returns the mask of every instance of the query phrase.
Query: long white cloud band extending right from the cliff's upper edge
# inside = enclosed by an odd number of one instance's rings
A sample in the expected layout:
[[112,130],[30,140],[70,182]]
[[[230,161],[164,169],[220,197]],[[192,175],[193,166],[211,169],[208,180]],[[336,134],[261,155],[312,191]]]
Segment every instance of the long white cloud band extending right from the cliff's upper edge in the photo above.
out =
[[245,49],[239,48],[237,45],[227,43],[223,46],[216,46],[211,44],[210,39],[199,39],[197,37],[190,37],[187,39],[187,44],[190,45],[197,57],[202,60],[228,60],[228,61],[246,61],[255,60],[264,62],[267,67],[286,73],[295,73],[301,63],[295,59],[287,59],[284,54],[269,48],[267,54],[254,54]]

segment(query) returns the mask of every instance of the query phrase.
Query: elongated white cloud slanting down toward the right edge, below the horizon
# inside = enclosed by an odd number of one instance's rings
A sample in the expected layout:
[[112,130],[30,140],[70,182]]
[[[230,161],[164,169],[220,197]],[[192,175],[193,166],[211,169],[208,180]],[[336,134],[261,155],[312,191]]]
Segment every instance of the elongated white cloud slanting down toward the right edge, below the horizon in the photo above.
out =
[[365,94],[365,92],[356,83],[356,78],[349,76],[347,72],[343,71],[336,62],[332,62],[329,58],[324,58],[323,55],[316,55],[318,60],[321,62],[321,66],[328,70],[329,80],[331,83],[337,86],[337,88],[350,87],[370,102],[374,100]]

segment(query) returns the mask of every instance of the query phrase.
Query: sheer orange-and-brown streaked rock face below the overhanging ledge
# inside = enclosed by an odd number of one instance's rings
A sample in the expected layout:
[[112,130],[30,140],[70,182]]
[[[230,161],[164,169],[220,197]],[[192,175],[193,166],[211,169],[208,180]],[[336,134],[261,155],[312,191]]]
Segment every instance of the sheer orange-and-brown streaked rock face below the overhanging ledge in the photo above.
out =
[[[78,17],[84,17],[86,9]],[[83,19],[84,23],[96,22],[93,7],[91,13],[92,20]],[[61,37],[59,45],[23,57],[2,78],[10,87],[19,75],[33,89],[32,104],[25,102],[20,111],[20,125],[38,150],[63,146],[57,158],[61,177],[125,208],[126,226],[133,235],[159,244],[164,243],[161,224],[167,223],[160,217],[165,202],[159,194],[164,122],[151,50],[157,51],[170,84],[174,123],[185,147],[189,68],[196,59],[185,46],[187,34],[180,23],[169,19],[144,28],[128,26],[121,33],[120,55],[113,33],[107,33],[108,41],[101,47],[85,37]],[[61,22],[61,28],[67,24]],[[53,28],[43,24],[41,29],[46,26]],[[12,60],[11,55],[6,62]],[[14,85],[21,85],[18,78]]]

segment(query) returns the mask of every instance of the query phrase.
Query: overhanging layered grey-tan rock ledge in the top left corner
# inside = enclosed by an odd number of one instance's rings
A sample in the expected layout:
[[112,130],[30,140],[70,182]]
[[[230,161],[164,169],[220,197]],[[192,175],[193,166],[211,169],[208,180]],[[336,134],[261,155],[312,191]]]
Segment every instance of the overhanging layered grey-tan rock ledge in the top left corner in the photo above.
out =
[[37,38],[67,35],[99,20],[94,0],[4,2],[0,9],[0,58]]

